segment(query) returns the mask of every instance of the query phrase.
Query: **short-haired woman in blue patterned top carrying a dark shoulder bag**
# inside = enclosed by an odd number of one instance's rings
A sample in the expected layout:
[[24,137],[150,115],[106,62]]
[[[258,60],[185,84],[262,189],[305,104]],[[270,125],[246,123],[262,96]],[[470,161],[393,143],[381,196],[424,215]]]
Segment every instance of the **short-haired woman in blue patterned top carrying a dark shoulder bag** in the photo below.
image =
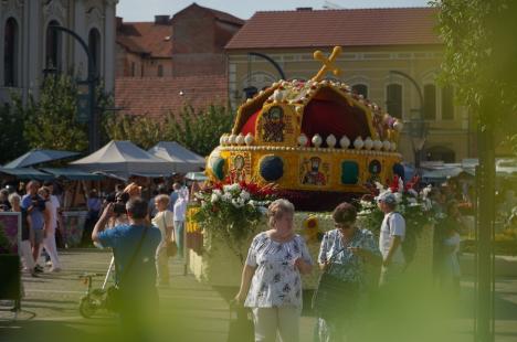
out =
[[319,267],[346,286],[342,302],[317,309],[317,338],[321,342],[347,341],[350,321],[368,288],[366,263],[380,265],[381,254],[373,235],[356,226],[357,211],[349,203],[333,213],[336,228],[325,233],[318,255]]

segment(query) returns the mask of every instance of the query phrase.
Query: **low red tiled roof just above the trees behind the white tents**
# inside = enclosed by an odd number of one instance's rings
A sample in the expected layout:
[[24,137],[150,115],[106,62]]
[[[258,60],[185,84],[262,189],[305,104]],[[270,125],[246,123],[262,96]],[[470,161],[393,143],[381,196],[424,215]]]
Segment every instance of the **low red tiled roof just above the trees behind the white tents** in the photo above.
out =
[[[182,95],[180,95],[180,93]],[[204,109],[226,105],[225,75],[190,77],[127,77],[115,82],[115,105],[123,114],[160,117],[178,115],[186,105]]]

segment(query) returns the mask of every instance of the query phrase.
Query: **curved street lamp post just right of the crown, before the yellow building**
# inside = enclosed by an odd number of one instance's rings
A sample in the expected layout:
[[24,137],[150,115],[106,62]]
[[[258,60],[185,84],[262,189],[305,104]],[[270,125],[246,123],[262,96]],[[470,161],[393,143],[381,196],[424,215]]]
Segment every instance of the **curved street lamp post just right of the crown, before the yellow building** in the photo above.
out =
[[411,139],[411,145],[413,148],[413,157],[414,157],[414,168],[420,170],[420,164],[422,160],[422,151],[425,145],[426,136],[428,136],[428,127],[425,125],[425,120],[423,117],[423,108],[424,108],[424,97],[422,89],[420,88],[416,81],[410,75],[399,72],[399,71],[390,71],[390,74],[402,76],[411,82],[411,84],[416,89],[416,94],[419,94],[420,107],[416,109],[411,109],[410,120],[407,122],[409,124],[409,136]]

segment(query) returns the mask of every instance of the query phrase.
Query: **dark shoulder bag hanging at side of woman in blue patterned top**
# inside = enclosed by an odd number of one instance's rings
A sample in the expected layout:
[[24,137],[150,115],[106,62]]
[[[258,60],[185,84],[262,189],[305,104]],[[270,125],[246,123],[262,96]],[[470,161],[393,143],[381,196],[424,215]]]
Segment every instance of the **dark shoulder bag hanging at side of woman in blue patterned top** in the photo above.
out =
[[319,276],[318,287],[313,296],[313,309],[321,318],[347,318],[354,311],[355,301],[359,295],[359,285],[339,279],[330,272],[333,259],[345,248],[339,249],[329,258],[329,267]]

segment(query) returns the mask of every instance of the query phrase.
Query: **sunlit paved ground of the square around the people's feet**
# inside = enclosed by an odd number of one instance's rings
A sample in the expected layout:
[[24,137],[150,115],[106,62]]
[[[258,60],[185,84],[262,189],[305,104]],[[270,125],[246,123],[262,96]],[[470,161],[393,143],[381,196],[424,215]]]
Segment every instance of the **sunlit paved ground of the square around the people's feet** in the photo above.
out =
[[[105,272],[110,254],[95,249],[61,253],[64,270],[44,274],[40,278],[23,276],[25,298],[22,312],[15,321],[11,312],[0,312],[0,341],[117,341],[117,320],[98,312],[83,319],[77,310],[78,299],[86,287],[78,279],[84,271]],[[172,285],[160,289],[161,341],[226,341],[229,327],[228,303],[220,292],[198,282],[192,276],[182,276],[182,266],[171,263]],[[101,286],[102,277],[96,280]],[[454,342],[472,341],[472,281],[462,282],[461,313],[451,322]],[[497,342],[517,341],[517,279],[502,279],[497,284]],[[228,293],[225,295],[228,297]],[[300,322],[302,342],[313,341],[315,319],[304,316]],[[244,342],[244,341],[243,341]],[[386,341],[384,341],[386,342]]]

